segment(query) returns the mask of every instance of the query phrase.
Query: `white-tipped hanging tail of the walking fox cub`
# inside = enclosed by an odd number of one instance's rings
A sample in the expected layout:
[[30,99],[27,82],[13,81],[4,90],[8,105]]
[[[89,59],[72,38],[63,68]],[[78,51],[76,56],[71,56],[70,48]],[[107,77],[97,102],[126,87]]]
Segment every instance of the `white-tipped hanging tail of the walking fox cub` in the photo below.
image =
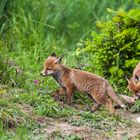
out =
[[112,87],[110,86],[110,84],[107,82],[106,85],[106,90],[107,93],[109,95],[109,97],[115,101],[120,107],[124,108],[125,105],[121,102],[121,100],[119,99],[119,97],[115,94],[115,92],[113,91]]

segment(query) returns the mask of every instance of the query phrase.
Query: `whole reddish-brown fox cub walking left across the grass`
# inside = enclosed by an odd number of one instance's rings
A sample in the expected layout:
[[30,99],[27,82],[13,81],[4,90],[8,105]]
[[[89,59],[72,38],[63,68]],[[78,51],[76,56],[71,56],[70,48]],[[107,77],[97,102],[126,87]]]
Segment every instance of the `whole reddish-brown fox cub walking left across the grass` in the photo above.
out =
[[[71,103],[74,90],[86,92],[95,102],[92,112],[96,111],[101,105],[106,105],[111,113],[114,112],[112,101],[115,101],[122,108],[124,104],[114,93],[112,87],[104,78],[95,74],[81,71],[78,69],[68,68],[61,63],[61,57],[56,57],[54,53],[44,62],[44,68],[41,72],[43,76],[51,75],[61,86],[54,97],[66,93],[67,103]],[[111,98],[109,98],[109,97]]]

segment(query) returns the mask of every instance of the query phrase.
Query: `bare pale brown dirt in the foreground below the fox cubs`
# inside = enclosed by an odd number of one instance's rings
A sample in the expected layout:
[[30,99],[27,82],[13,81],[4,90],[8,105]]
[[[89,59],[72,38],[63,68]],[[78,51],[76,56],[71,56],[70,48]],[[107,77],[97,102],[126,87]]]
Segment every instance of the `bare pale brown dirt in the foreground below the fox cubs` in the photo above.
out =
[[[62,139],[70,135],[76,135],[82,140],[140,140],[140,113],[132,114],[129,111],[121,110],[118,110],[118,112],[122,117],[131,119],[134,123],[130,127],[118,127],[115,132],[108,134],[104,130],[98,130],[87,125],[72,126],[62,119],[49,119],[47,120],[47,127],[42,130],[43,135],[38,135],[36,140],[40,138],[57,140],[56,135],[58,134],[62,136]],[[78,118],[78,116],[75,116],[75,118]]]

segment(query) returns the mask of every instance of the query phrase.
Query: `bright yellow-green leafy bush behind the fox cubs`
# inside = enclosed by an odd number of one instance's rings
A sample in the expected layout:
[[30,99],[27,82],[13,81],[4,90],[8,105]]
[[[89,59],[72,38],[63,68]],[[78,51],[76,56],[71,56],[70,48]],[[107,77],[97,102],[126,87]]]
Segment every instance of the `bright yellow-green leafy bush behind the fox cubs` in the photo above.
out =
[[92,32],[84,51],[90,53],[90,70],[122,87],[126,84],[124,75],[131,76],[140,60],[140,9],[107,10],[115,16],[107,22],[96,22],[99,33]]

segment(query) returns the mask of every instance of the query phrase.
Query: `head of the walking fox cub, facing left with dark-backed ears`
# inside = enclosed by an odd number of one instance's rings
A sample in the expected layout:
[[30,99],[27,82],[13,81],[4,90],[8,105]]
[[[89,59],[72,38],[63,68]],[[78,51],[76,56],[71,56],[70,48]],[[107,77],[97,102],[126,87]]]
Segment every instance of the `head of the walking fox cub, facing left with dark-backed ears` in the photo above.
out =
[[42,76],[49,76],[57,73],[62,57],[57,57],[55,53],[52,53],[44,62]]

